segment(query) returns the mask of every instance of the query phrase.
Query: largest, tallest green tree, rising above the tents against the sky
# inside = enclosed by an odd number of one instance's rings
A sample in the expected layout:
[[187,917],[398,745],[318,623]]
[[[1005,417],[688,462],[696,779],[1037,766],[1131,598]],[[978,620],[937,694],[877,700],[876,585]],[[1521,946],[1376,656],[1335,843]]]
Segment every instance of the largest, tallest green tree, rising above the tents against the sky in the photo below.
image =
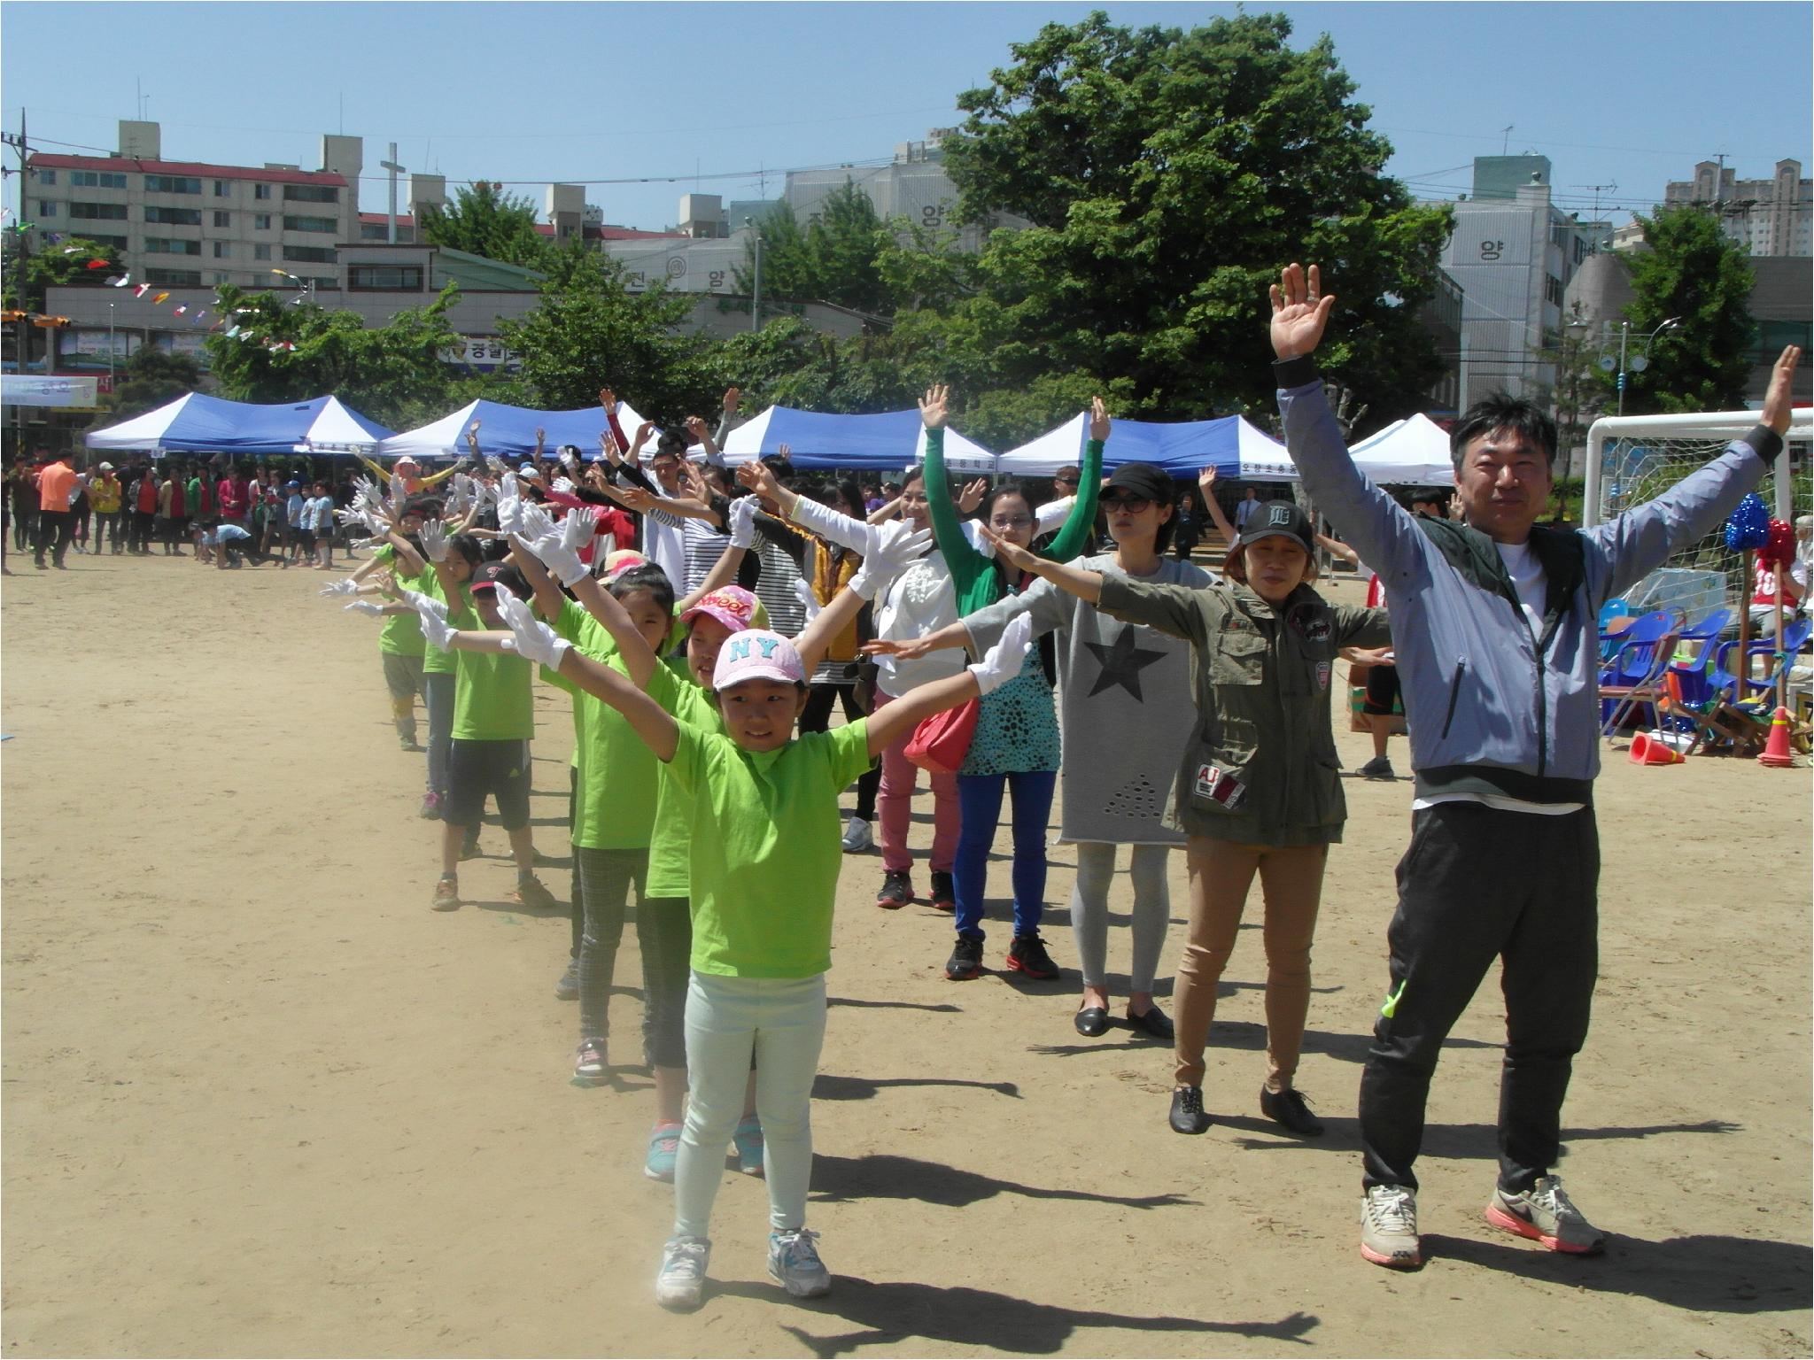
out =
[[1282,15],[1130,31],[1094,13],[960,96],[960,218],[1032,223],[989,236],[963,303],[1005,386],[1070,372],[1128,413],[1270,408],[1266,287],[1313,259],[1341,297],[1324,370],[1379,415],[1422,403],[1440,366],[1415,312],[1449,212],[1384,176],[1391,147],[1330,40],[1299,53],[1290,33]]

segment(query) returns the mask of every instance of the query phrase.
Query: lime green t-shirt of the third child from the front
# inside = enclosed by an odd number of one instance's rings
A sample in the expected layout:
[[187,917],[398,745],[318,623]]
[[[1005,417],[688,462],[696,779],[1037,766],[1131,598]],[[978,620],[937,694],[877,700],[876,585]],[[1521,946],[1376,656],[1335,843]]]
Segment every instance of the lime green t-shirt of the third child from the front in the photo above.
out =
[[[611,631],[575,600],[561,606],[555,633],[595,662],[629,676]],[[573,695],[573,845],[586,850],[639,850],[655,829],[655,771],[660,762],[629,720],[566,676],[542,669]]]

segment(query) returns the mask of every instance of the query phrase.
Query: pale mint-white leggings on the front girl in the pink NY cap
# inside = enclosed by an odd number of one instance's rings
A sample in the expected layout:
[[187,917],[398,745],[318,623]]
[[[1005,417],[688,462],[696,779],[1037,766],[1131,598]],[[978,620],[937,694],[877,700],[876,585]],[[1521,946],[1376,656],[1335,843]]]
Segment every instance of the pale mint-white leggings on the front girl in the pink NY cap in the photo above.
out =
[[769,1228],[805,1228],[813,1179],[813,1077],[825,1043],[825,974],[720,977],[695,972],[686,992],[686,1128],[675,1161],[675,1237],[711,1237],[724,1146],[744,1113],[756,1055],[756,1117]]

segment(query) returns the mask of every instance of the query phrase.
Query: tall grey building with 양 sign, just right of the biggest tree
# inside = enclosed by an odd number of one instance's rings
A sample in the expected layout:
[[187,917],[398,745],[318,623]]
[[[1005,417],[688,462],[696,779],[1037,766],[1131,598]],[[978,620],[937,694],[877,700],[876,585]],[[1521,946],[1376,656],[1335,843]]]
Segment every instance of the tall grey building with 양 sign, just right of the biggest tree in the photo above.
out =
[[1442,268],[1462,290],[1457,404],[1495,390],[1547,403],[1555,366],[1540,350],[1560,339],[1564,292],[1607,225],[1555,207],[1546,156],[1477,156],[1473,192],[1451,207]]

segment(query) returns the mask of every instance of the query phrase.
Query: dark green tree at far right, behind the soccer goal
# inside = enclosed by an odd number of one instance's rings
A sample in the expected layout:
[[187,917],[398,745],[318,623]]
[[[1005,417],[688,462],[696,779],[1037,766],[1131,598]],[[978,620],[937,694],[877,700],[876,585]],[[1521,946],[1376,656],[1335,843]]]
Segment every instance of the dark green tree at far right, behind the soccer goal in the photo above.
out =
[[[1634,297],[1625,319],[1633,335],[1649,335],[1669,317],[1682,321],[1651,341],[1642,374],[1627,372],[1625,413],[1743,406],[1754,283],[1745,248],[1702,207],[1685,203],[1638,221],[1649,248],[1629,256]],[[1614,392],[1616,383],[1613,375]]]

